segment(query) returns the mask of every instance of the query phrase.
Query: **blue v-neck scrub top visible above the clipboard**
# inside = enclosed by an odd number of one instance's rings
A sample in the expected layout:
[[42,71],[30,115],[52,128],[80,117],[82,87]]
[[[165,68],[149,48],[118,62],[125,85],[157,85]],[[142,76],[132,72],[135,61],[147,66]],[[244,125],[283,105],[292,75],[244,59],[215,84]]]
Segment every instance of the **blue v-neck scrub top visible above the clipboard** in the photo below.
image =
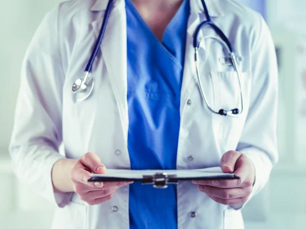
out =
[[[131,167],[175,169],[189,0],[183,2],[164,33],[175,56],[152,33],[131,0],[126,1]],[[139,163],[144,152],[154,155],[158,163]]]

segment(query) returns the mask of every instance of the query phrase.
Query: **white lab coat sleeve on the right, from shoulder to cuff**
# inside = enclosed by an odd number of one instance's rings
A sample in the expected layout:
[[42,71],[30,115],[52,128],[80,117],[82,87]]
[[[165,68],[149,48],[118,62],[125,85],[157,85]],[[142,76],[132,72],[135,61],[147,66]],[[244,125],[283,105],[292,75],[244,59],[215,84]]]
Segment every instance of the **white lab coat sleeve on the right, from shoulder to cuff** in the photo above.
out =
[[[260,29],[254,35],[251,50],[250,106],[237,151],[254,164],[256,178],[250,198],[268,182],[277,152],[277,89],[278,72],[275,47],[270,31],[261,15]],[[241,208],[242,206],[236,206]]]

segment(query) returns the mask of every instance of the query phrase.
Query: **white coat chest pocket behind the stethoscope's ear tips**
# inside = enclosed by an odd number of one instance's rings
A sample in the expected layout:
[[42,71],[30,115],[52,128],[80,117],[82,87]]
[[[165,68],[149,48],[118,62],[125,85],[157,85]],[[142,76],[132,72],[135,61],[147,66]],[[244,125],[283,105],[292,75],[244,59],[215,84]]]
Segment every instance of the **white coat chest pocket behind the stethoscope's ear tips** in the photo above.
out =
[[239,139],[242,133],[248,104],[250,100],[251,80],[247,73],[240,74],[239,86],[236,71],[211,72],[214,91],[214,110],[221,109],[231,111],[239,109],[241,111],[241,91],[243,99],[243,113],[239,117],[214,116],[215,134],[218,139]]

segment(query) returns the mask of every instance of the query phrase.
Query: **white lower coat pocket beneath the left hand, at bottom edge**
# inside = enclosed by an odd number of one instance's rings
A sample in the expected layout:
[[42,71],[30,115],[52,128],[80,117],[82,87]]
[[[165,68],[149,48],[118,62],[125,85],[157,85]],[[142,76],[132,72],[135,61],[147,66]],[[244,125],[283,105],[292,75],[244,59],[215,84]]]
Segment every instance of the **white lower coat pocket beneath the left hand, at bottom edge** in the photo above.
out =
[[64,208],[57,208],[52,229],[87,229],[87,207],[81,203],[70,201]]

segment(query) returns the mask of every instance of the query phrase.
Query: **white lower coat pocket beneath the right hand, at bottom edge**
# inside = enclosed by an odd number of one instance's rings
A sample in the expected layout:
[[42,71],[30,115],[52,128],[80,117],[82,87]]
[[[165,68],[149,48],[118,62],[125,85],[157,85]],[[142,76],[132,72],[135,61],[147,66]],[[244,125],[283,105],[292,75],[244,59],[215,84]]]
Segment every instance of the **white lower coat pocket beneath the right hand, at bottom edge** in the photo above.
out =
[[223,222],[223,229],[244,229],[241,211],[226,209]]

